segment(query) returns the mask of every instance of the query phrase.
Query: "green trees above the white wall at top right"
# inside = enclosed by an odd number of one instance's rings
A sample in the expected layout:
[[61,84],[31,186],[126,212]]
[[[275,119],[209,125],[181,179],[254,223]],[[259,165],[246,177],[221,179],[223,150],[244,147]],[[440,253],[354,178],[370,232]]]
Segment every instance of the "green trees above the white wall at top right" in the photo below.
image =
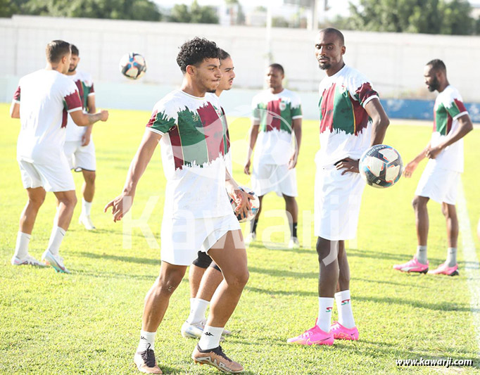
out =
[[471,10],[467,0],[360,0],[339,21],[353,30],[467,35],[474,32]]

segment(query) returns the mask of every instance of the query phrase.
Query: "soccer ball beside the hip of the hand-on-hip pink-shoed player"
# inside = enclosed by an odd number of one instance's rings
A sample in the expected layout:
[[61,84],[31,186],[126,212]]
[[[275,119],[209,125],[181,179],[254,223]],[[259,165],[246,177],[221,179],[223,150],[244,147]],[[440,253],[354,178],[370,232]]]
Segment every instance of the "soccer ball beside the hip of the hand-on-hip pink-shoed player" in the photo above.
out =
[[377,144],[363,153],[358,169],[360,176],[367,184],[386,188],[398,182],[403,172],[403,163],[395,148],[386,144]]

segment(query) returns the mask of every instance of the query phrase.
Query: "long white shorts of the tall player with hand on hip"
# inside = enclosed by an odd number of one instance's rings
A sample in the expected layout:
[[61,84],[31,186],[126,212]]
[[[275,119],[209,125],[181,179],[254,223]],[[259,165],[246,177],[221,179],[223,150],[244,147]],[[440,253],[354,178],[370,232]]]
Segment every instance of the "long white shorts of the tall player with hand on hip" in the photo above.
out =
[[341,174],[334,165],[315,174],[315,236],[331,241],[355,239],[365,182],[359,173]]

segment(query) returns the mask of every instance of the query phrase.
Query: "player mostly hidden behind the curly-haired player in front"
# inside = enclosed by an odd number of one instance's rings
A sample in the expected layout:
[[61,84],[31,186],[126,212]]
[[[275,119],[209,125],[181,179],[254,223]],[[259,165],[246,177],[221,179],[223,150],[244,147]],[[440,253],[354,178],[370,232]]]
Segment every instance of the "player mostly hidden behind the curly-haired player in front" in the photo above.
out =
[[[222,71],[222,78],[215,90],[215,95],[220,97],[223,91],[232,89],[235,78],[234,63],[229,53],[220,49],[220,70]],[[227,122],[225,114],[222,117],[225,120],[225,127],[227,129]],[[227,145],[229,145],[229,136],[227,129]],[[232,160],[229,150],[227,152],[227,169],[232,174]],[[206,324],[206,311],[213,293],[217,290],[217,286],[223,280],[222,272],[212,258],[203,251],[198,251],[198,258],[194,260],[189,269],[189,284],[190,284],[190,314],[187,321],[182,325],[182,336],[186,338],[201,338],[203,327]],[[223,330],[224,336],[231,334],[227,329]]]

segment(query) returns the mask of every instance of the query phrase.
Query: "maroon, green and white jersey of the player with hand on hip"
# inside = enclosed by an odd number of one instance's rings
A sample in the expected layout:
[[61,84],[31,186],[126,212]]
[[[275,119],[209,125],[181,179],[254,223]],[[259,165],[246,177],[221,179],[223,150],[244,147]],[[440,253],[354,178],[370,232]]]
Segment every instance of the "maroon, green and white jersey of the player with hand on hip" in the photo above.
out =
[[371,119],[365,105],[379,98],[358,70],[345,65],[320,82],[320,151],[317,163],[331,165],[344,158],[360,159],[370,146]]

